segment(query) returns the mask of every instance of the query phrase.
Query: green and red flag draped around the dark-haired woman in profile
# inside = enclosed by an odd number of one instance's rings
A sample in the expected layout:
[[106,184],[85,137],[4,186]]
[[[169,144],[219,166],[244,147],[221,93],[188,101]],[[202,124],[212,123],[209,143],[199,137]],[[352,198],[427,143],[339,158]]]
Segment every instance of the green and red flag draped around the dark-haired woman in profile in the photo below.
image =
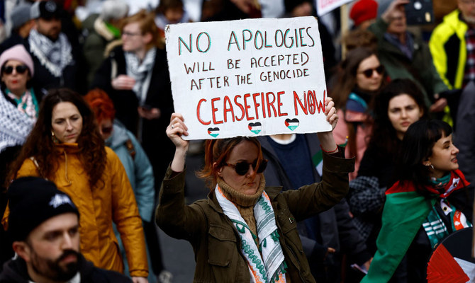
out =
[[432,192],[429,197],[421,195],[410,182],[398,181],[386,191],[383,226],[376,240],[378,250],[362,283],[389,282],[437,200],[469,185],[461,171],[450,174],[444,192],[433,193],[432,187],[425,187]]

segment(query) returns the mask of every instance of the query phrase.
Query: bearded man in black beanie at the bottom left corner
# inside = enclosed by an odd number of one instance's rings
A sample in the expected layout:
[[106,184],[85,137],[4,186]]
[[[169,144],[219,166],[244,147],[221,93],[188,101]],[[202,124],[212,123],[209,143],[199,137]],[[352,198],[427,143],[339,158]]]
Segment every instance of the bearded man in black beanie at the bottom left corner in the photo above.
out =
[[5,263],[1,283],[132,282],[94,267],[79,253],[79,211],[54,183],[18,178],[8,195],[8,231],[18,257]]

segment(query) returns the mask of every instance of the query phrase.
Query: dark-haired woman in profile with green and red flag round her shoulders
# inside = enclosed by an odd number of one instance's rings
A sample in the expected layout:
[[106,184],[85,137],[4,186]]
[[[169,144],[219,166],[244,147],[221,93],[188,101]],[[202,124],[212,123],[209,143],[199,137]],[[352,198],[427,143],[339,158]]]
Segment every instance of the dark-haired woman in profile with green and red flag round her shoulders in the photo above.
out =
[[419,120],[404,135],[400,152],[398,181],[386,191],[378,250],[364,283],[426,282],[432,248],[472,226],[473,188],[459,171],[452,128]]

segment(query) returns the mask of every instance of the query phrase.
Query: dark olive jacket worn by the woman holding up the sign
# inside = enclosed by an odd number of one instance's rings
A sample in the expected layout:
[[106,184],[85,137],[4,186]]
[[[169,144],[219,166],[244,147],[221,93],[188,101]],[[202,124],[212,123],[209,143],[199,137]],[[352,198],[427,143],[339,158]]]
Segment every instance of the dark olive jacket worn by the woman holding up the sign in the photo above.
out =
[[[303,253],[296,221],[330,209],[348,190],[348,172],[354,159],[324,154],[323,181],[281,192],[282,187],[266,187],[279,231],[279,241],[288,265],[286,276],[292,283],[315,282]],[[155,214],[157,225],[169,236],[185,239],[194,248],[194,282],[250,282],[249,267],[241,253],[239,232],[216,200],[184,204],[185,173],[172,176],[169,168],[160,190]]]

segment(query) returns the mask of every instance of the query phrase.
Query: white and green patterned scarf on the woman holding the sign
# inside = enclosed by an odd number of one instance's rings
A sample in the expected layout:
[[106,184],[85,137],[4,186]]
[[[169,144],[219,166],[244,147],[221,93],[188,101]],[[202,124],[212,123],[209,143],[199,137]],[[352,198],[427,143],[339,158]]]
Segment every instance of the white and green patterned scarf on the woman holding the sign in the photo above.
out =
[[[242,255],[247,260],[251,282],[286,282],[284,275],[286,262],[280,246],[274,209],[267,193],[263,191],[254,206],[257,223],[257,235],[255,235],[242,219],[238,208],[225,197],[223,190],[218,185],[216,185],[215,192],[224,214],[229,217],[240,233]],[[257,238],[259,243],[256,243]]]

